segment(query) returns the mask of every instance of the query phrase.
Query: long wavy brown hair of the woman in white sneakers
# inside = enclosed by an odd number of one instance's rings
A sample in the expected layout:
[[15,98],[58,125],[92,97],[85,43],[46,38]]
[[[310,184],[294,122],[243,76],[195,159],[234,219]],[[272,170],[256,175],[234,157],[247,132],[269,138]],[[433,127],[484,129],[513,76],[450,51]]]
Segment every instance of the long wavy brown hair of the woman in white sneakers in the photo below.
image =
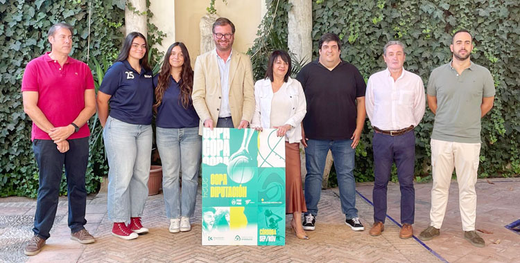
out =
[[155,105],[153,105],[153,110],[157,113],[157,108],[161,105],[162,97],[164,96],[164,92],[168,89],[168,85],[170,84],[170,56],[171,50],[175,48],[175,46],[179,46],[182,51],[182,56],[184,57],[184,64],[182,64],[182,71],[180,72],[180,94],[179,97],[182,101],[182,107],[184,109],[188,109],[191,105],[191,91],[193,91],[193,69],[191,69],[191,62],[189,60],[188,48],[184,46],[182,42],[175,42],[166,51],[166,55],[164,55],[164,62],[161,66],[161,72],[159,73],[159,78],[157,78],[157,87],[155,88]]

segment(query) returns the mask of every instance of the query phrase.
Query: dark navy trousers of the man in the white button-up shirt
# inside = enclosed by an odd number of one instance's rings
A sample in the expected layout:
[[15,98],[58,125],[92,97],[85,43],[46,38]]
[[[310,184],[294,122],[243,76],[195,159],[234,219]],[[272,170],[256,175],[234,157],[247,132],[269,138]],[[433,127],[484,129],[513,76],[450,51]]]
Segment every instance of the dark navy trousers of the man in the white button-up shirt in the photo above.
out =
[[413,175],[415,164],[415,134],[408,131],[399,136],[374,132],[374,222],[385,222],[386,192],[392,163],[397,166],[401,188],[401,224],[413,224],[415,217],[415,189]]

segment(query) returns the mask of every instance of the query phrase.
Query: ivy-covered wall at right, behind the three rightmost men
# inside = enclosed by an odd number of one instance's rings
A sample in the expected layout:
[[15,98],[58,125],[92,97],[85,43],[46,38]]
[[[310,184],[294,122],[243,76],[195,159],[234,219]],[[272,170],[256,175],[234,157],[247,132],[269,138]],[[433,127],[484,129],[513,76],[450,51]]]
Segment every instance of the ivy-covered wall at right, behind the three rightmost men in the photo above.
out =
[[[268,0],[268,12],[250,53],[272,47],[272,39],[287,39],[287,0]],[[272,26],[271,26],[272,25]],[[514,176],[520,173],[520,2],[512,0],[376,0],[313,1],[313,59],[323,33],[340,36],[341,57],[354,64],[365,80],[385,69],[383,46],[397,39],[406,44],[405,69],[420,75],[425,84],[435,67],[451,60],[451,35],[467,28],[474,36],[471,60],[492,72],[496,99],[482,120],[479,176]],[[279,47],[278,45],[277,47]],[[286,46],[285,46],[286,48]],[[265,72],[264,60],[253,60],[255,76]],[[425,102],[426,103],[426,102]],[[416,175],[430,173],[430,135],[433,114],[426,114],[415,129]],[[372,128],[367,120],[356,149],[358,181],[373,180]],[[395,173],[395,172],[394,172]],[[419,178],[420,180],[420,178]]]

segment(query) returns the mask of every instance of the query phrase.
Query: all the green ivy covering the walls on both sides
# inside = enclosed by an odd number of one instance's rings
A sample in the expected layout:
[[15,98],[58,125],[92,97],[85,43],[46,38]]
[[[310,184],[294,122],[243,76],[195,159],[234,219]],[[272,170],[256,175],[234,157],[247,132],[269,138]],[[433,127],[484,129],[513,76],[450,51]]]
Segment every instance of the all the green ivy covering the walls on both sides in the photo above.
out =
[[[267,57],[262,54],[274,48],[287,48],[287,10],[291,5],[287,0],[266,2],[268,12],[259,29],[259,39],[250,50],[257,54],[257,60],[253,60],[255,79],[265,73]],[[342,39],[343,60],[356,65],[367,79],[385,67],[382,46],[389,40],[399,39],[408,46],[406,69],[427,83],[431,71],[451,58],[451,34],[459,28],[469,29],[475,42],[471,58],[492,72],[496,84],[494,108],[483,118],[479,176],[519,174],[520,3],[512,0],[452,3],[439,0],[313,1],[313,57],[318,56],[320,35],[336,33]],[[13,194],[35,197],[36,194],[37,167],[30,140],[31,120],[24,114],[20,87],[25,65],[50,49],[47,30],[51,24],[66,21],[74,27],[72,57],[87,61],[90,33],[90,60],[95,57],[102,61],[107,57],[112,61],[123,39],[124,5],[124,0],[0,0],[1,197]],[[96,72],[94,74],[98,81]],[[93,121],[94,118],[91,127]],[[427,111],[416,129],[417,176],[428,174],[432,127],[433,114]],[[99,133],[98,129],[94,132]],[[372,129],[367,120],[356,151],[358,181],[373,179],[371,140]],[[106,170],[103,148],[91,151],[87,170],[89,192],[96,191],[99,175]],[[64,181],[61,192],[66,192]]]

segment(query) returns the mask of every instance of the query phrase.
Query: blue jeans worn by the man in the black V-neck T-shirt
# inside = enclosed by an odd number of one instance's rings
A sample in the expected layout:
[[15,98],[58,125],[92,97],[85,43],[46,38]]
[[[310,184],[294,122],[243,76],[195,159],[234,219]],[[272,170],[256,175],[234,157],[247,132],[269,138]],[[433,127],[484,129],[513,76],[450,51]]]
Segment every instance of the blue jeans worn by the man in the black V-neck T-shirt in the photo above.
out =
[[313,140],[307,141],[305,149],[305,203],[306,214],[318,215],[318,201],[322,189],[323,170],[329,149],[334,158],[338,176],[341,210],[347,219],[358,217],[356,209],[356,181],[354,180],[354,158],[356,149],[350,146],[352,140]]

